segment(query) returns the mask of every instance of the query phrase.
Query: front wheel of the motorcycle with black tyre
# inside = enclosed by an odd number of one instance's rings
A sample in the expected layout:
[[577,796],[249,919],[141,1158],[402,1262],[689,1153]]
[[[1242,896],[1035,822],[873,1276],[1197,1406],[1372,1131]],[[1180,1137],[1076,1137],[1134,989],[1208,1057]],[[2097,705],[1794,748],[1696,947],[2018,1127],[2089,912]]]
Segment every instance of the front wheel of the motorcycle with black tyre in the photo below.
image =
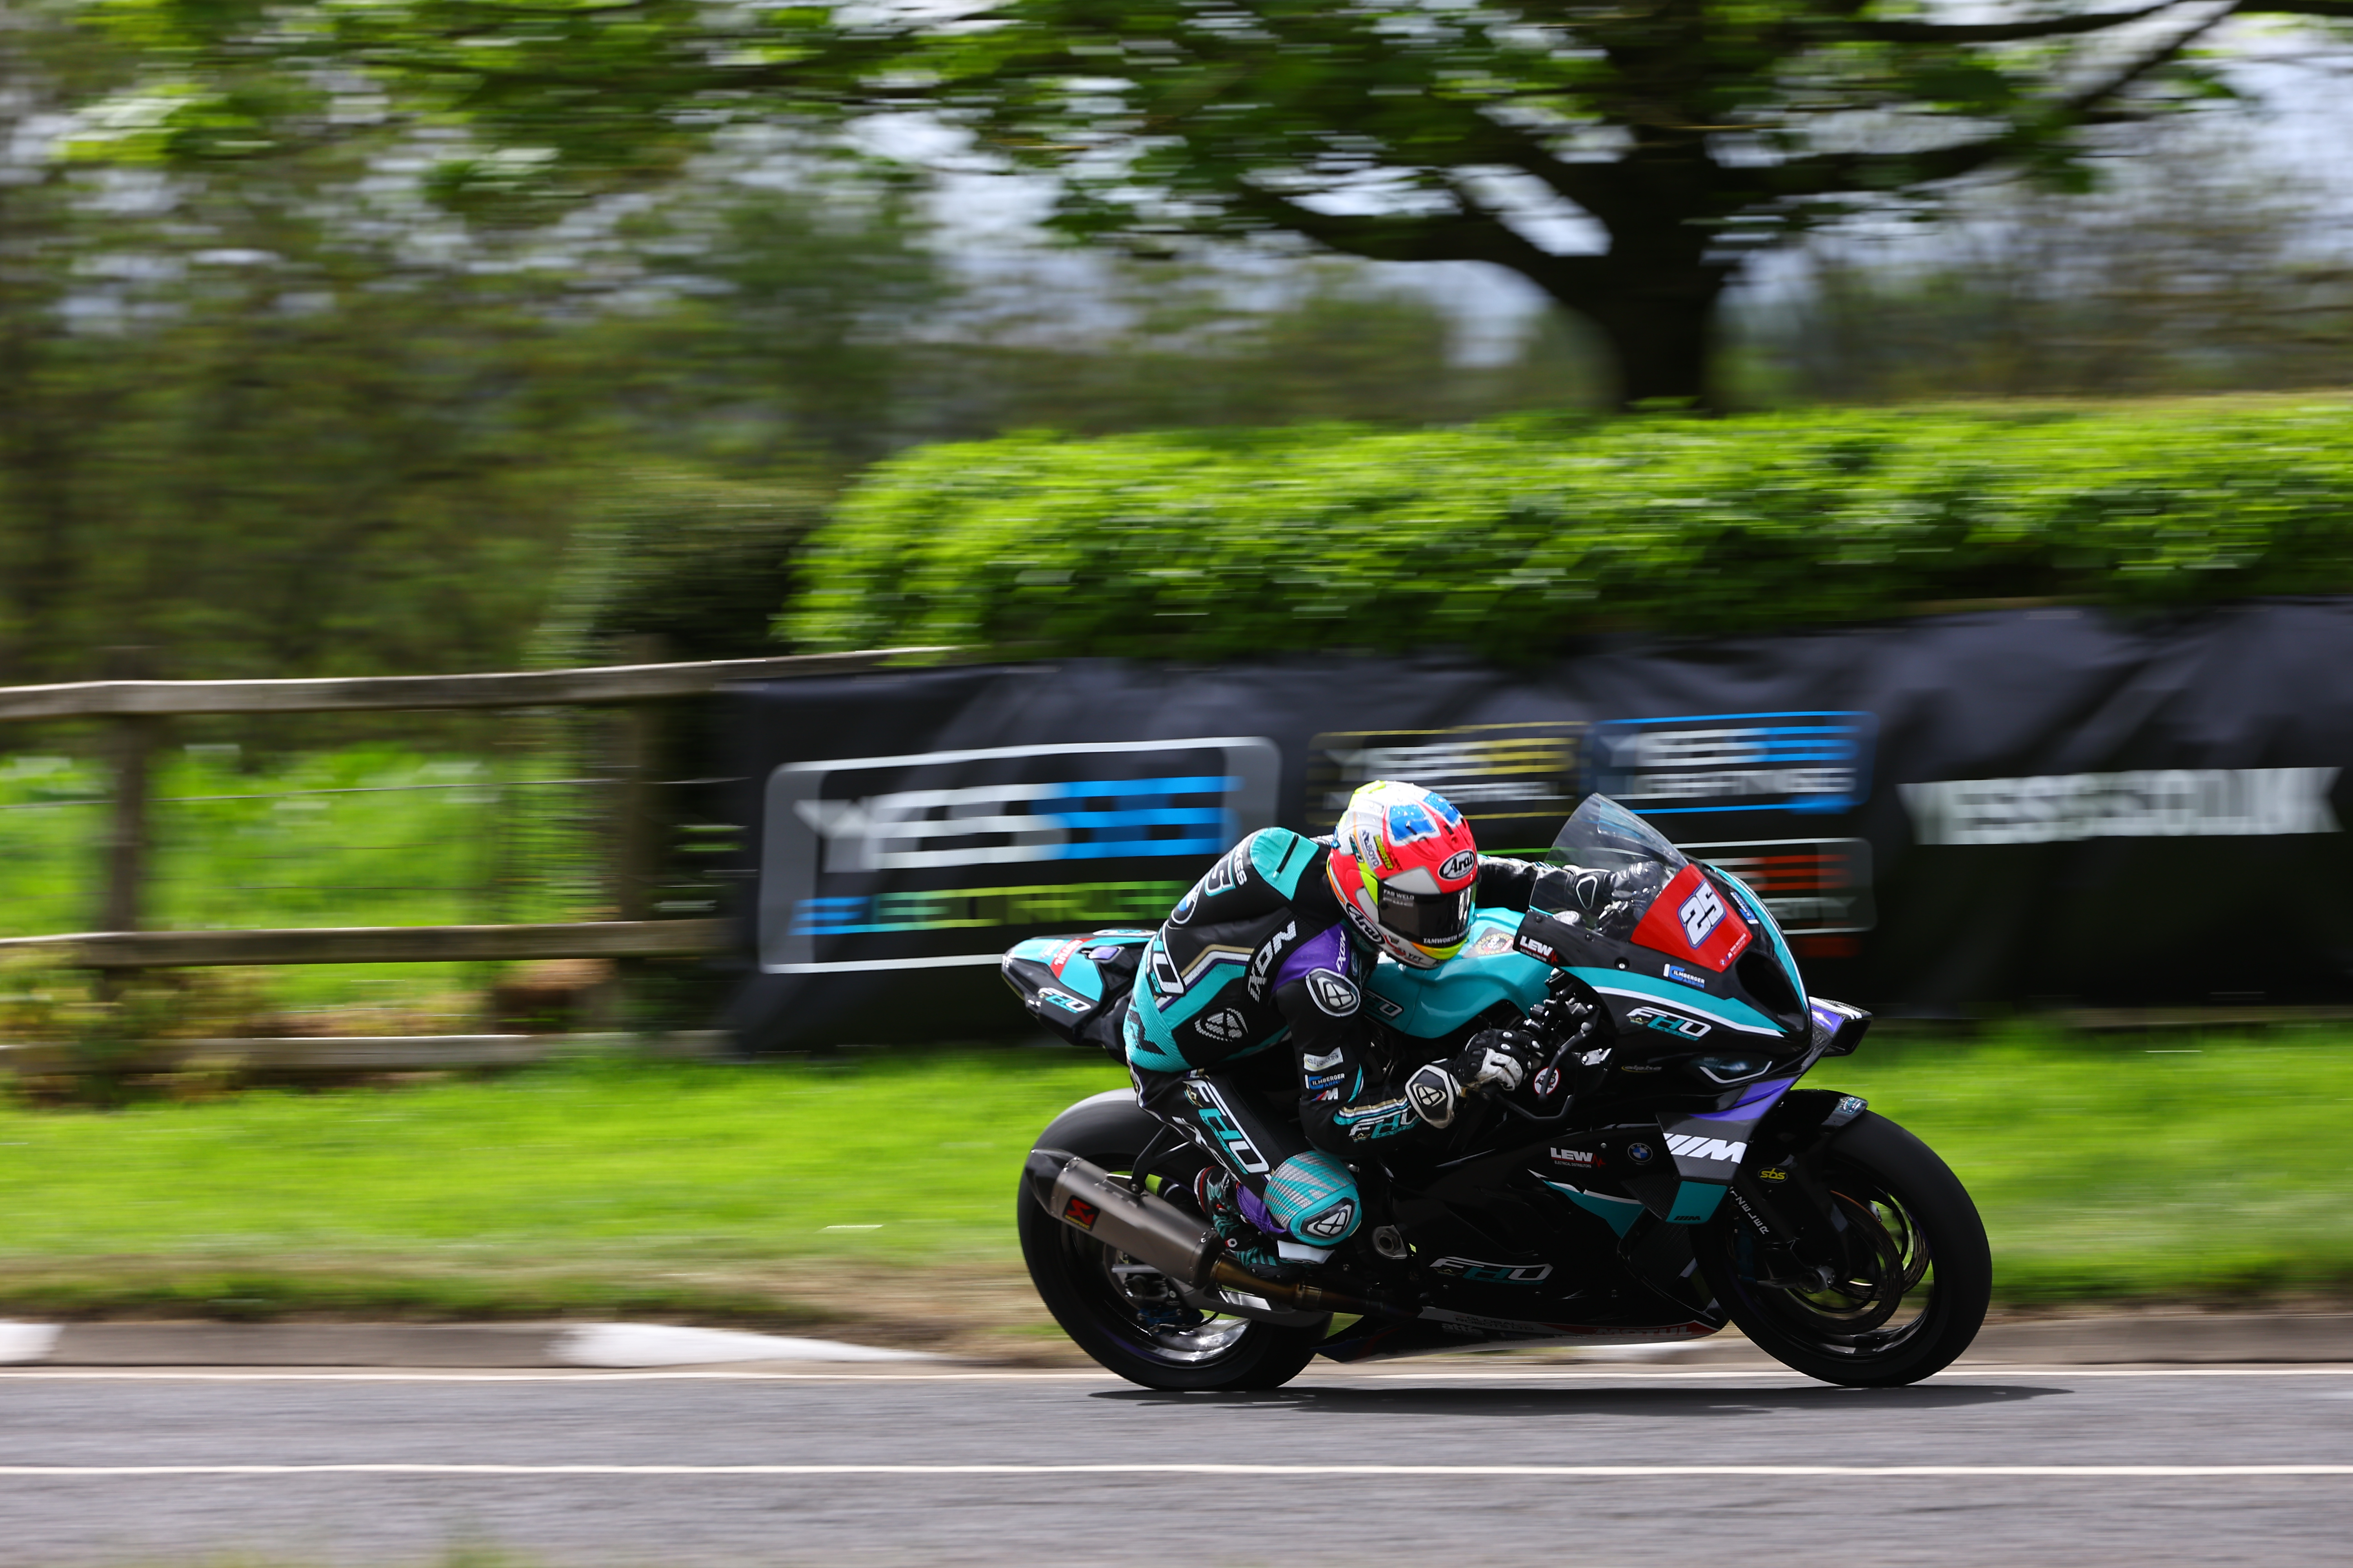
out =
[[1715,1298],[1758,1349],[1807,1378],[1897,1387],[1951,1366],[1993,1295],[1986,1225],[1960,1178],[1871,1112],[1807,1159],[1838,1213],[1842,1255],[1814,1260],[1828,1279],[1760,1281],[1777,1265],[1727,1201],[1692,1239]]

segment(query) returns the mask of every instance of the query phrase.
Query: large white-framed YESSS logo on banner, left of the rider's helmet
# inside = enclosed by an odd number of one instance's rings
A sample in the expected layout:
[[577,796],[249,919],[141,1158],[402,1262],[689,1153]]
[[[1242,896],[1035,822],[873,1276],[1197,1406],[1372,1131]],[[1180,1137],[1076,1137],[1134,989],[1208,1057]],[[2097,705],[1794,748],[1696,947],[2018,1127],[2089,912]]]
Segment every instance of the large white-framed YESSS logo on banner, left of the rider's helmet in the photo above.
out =
[[995,964],[1033,929],[1160,924],[1275,820],[1264,736],[1000,745],[769,773],[760,966]]

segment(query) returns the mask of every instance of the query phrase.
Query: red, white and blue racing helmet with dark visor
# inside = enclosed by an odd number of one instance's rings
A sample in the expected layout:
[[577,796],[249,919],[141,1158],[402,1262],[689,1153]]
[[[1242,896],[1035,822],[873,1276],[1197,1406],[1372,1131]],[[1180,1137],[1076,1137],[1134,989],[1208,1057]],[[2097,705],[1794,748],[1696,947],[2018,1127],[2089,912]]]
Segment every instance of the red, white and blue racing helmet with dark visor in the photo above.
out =
[[1400,964],[1435,969],[1461,952],[1471,929],[1478,844],[1442,795],[1381,778],[1348,797],[1325,879],[1362,940]]

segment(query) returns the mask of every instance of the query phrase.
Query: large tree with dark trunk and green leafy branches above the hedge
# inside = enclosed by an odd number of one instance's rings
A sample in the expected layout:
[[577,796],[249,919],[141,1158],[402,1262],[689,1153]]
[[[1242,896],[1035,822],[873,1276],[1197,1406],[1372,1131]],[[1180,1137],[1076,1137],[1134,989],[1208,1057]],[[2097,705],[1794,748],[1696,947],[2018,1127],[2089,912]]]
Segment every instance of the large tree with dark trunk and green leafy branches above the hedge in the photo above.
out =
[[[1165,249],[1282,233],[1506,266],[1600,329],[1626,402],[1711,397],[1715,303],[1758,249],[1995,165],[2080,183],[2087,125],[2219,92],[2198,49],[2231,16],[2353,14],[2353,0],[1977,21],[1901,0],[946,14],[388,0],[289,26],[261,0],[113,5],[158,73],[111,122],[174,155],[315,134],[339,94],[391,92],[487,148],[449,162],[452,202],[529,202],[588,174],[659,176],[741,118],[925,110],[1059,176],[1056,221],[1080,235]],[[268,68],[287,59],[306,75]],[[1605,244],[1574,249],[1562,221]]]

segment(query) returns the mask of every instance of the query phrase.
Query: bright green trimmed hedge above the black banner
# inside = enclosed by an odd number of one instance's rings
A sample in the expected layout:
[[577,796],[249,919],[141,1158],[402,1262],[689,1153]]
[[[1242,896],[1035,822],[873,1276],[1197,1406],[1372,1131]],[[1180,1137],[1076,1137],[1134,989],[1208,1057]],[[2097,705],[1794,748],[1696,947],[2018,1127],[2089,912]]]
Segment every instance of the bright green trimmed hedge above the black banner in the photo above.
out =
[[1009,437],[878,465],[800,564],[800,646],[1193,658],[2339,592],[2353,404]]

